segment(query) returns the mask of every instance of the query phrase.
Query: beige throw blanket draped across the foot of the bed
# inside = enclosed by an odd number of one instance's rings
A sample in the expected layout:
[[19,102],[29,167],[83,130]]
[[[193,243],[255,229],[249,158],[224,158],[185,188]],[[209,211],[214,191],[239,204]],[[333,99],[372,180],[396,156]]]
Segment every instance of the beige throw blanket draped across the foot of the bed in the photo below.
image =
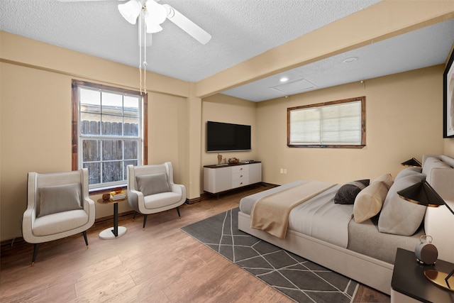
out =
[[262,197],[255,202],[250,214],[250,227],[285,238],[290,211],[335,184],[307,181]]

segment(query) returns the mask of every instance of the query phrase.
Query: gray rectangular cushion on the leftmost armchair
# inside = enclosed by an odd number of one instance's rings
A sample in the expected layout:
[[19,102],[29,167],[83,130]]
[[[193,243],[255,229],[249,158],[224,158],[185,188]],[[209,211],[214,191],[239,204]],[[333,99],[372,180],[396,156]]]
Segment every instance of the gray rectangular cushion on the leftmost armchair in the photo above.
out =
[[82,209],[82,189],[79,183],[40,187],[38,218],[61,211]]

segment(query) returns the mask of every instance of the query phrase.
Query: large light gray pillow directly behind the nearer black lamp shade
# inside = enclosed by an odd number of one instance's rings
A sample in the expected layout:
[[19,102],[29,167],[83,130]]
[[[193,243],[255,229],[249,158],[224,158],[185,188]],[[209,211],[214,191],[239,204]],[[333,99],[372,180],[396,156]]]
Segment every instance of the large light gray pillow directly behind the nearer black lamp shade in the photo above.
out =
[[408,202],[397,192],[413,184],[421,182],[423,174],[409,175],[396,180],[384,199],[382,212],[378,219],[378,229],[382,233],[394,233],[411,236],[418,230],[426,213],[426,206]]

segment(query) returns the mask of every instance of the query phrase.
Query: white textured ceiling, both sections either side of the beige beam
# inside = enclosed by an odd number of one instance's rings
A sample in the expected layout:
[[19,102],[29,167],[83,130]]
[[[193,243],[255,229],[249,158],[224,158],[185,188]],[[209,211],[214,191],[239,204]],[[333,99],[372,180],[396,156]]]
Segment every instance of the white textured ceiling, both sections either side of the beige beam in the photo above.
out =
[[[213,38],[201,45],[165,21],[163,31],[153,34],[153,45],[147,48],[148,70],[198,82],[379,1],[162,0],[161,4],[175,7]],[[0,30],[138,67],[138,27],[121,17],[120,3],[1,0]],[[453,45],[453,33],[454,19],[224,93],[262,101],[442,64]],[[348,57],[358,60],[343,63]],[[289,77],[287,87],[277,87],[282,75]]]

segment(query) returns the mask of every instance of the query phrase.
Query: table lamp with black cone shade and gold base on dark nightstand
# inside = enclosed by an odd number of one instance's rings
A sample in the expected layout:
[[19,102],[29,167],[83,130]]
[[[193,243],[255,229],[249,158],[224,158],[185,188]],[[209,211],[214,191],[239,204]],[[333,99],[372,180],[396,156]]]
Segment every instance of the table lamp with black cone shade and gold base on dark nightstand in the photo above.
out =
[[[445,205],[448,207],[449,211],[454,214],[453,209],[451,209],[448,204],[440,197],[440,195],[431,187],[426,180],[422,180],[419,183],[411,185],[406,189],[402,189],[399,192],[399,197],[402,199],[419,204],[424,206],[438,207]],[[443,287],[445,290],[450,290],[454,292],[454,270],[450,273],[440,272],[438,270],[425,270],[424,275],[431,282],[436,285]]]

